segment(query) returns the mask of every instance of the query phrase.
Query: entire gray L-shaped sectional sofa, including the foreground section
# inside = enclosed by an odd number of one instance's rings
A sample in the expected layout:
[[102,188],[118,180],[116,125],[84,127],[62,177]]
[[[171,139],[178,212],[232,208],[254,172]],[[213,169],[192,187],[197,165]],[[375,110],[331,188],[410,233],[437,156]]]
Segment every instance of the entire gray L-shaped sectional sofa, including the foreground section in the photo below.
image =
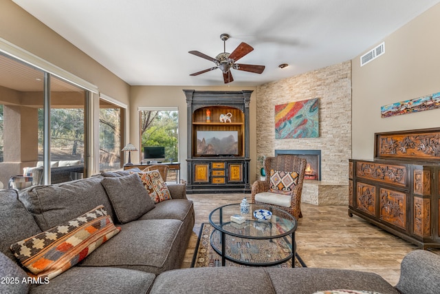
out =
[[[107,173],[20,192],[1,190],[0,293],[314,293],[335,289],[439,293],[440,256],[421,250],[404,258],[396,286],[375,273],[338,269],[179,269],[194,225],[185,186],[168,185],[173,199],[154,204],[145,213],[143,200],[131,197],[140,186],[126,174]],[[10,245],[100,204],[120,232],[49,282],[27,280]]]

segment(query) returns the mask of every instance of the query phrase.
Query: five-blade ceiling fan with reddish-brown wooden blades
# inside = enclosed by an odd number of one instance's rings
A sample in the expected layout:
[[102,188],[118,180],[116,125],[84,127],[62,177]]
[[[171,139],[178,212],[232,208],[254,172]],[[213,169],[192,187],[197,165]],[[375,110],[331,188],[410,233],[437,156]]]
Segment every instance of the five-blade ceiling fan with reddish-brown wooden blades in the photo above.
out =
[[243,70],[245,72],[254,72],[256,74],[261,74],[265,66],[264,65],[252,65],[252,64],[243,64],[243,63],[235,63],[241,57],[245,56],[254,48],[252,46],[241,42],[240,45],[235,48],[232,53],[226,52],[226,41],[229,39],[228,34],[221,34],[220,39],[223,41],[223,52],[219,53],[215,58],[212,58],[206,54],[203,54],[199,51],[190,51],[188,53],[194,54],[195,56],[199,56],[203,59],[208,59],[209,61],[212,61],[215,63],[214,67],[208,68],[207,70],[202,70],[200,72],[195,72],[194,74],[190,74],[190,76],[198,76],[199,74],[204,74],[205,72],[210,72],[211,70],[216,70],[219,68],[221,72],[223,72],[223,81],[225,81],[225,84],[230,83],[234,81],[234,78],[232,78],[232,74],[230,69],[233,68],[234,70]]

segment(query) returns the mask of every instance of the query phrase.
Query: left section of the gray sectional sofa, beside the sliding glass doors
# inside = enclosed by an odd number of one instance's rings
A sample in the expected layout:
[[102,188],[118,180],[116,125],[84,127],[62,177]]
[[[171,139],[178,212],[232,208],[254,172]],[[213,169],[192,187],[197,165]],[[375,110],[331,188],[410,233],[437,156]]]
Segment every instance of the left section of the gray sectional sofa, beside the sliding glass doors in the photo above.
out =
[[[115,182],[131,177],[127,174],[120,171],[21,191],[1,190],[0,293],[147,293],[156,275],[178,269],[194,227],[194,209],[186,199],[185,185],[167,185],[172,199],[153,202],[153,208],[143,213],[145,205],[140,198],[128,197],[138,188],[146,191],[142,182]],[[117,193],[124,194],[119,203]],[[23,283],[27,275],[10,245],[101,204],[120,232],[49,282]]]

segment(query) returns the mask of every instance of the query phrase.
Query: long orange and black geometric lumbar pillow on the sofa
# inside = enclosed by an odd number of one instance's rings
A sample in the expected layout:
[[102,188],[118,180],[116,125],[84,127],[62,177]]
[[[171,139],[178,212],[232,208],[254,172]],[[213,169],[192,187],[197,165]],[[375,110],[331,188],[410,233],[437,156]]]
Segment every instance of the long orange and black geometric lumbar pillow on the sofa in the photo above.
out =
[[119,233],[104,206],[10,246],[31,277],[49,280]]

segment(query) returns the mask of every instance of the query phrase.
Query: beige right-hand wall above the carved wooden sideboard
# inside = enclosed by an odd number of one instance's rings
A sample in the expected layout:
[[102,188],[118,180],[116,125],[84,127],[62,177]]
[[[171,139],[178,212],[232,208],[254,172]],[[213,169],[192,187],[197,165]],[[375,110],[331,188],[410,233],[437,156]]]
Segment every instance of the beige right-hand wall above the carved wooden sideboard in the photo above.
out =
[[380,117],[383,105],[440,92],[439,17],[437,4],[386,37],[382,56],[353,59],[353,158],[373,158],[376,132],[440,127],[440,109]]

